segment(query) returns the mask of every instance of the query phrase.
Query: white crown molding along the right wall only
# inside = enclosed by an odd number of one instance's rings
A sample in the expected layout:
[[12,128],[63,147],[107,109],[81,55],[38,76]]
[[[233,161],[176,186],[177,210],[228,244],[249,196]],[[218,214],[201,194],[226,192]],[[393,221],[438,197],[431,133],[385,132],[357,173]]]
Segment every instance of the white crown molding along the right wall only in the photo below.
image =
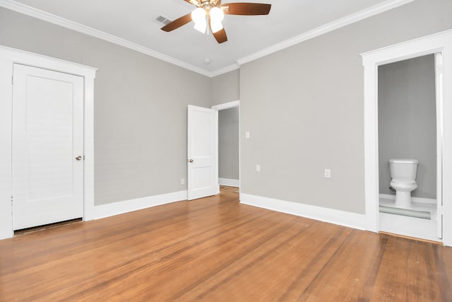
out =
[[321,25],[318,28],[314,28],[313,30],[307,31],[306,33],[302,33],[301,35],[297,35],[297,36],[287,39],[283,42],[279,42],[275,45],[264,48],[263,50],[260,50],[258,52],[254,52],[254,54],[249,54],[246,57],[237,59],[237,63],[239,65],[246,64],[246,63],[254,61],[256,59],[260,59],[261,57],[265,57],[268,54],[273,54],[273,52],[278,52],[279,50],[284,50],[287,47],[297,45],[306,40],[310,40],[314,37],[318,37],[319,35],[329,33],[333,30],[337,30],[338,28],[343,28],[347,25],[361,21],[365,18],[369,18],[371,16],[378,15],[379,13],[389,11],[398,6],[403,6],[412,1],[415,1],[415,0],[388,0],[388,1],[385,1],[382,4],[377,4],[375,6],[371,6],[370,8],[363,9],[362,11],[358,11],[357,13],[352,13],[349,16],[345,16],[345,17],[335,20],[333,22],[326,23],[325,25]]

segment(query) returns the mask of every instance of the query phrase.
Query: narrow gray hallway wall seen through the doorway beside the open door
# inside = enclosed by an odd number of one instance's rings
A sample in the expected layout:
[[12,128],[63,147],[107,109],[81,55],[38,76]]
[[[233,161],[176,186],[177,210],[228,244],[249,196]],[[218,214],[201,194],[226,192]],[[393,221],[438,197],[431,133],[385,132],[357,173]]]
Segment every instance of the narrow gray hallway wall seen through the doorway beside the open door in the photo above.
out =
[[239,108],[218,112],[218,177],[239,180]]

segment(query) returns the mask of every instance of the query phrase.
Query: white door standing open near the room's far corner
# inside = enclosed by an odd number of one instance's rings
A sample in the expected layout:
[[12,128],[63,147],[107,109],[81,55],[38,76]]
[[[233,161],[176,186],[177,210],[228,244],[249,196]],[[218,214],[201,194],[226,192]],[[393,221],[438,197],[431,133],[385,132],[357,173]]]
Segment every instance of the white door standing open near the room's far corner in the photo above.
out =
[[188,199],[218,194],[218,111],[189,105]]

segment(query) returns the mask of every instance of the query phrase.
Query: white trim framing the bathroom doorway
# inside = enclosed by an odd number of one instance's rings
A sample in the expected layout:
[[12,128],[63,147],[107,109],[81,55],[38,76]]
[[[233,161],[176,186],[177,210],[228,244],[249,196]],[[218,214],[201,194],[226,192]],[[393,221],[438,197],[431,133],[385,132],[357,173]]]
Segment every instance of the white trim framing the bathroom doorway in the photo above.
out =
[[[366,229],[379,231],[379,158],[378,158],[378,66],[425,54],[443,55],[443,81],[452,81],[452,30],[420,37],[408,42],[366,52],[364,66],[364,190]],[[452,86],[443,85],[442,121],[444,133],[452,133]],[[443,135],[443,183],[452,182],[452,137]],[[438,180],[439,185],[441,181]],[[452,246],[452,186],[442,188],[443,243]]]

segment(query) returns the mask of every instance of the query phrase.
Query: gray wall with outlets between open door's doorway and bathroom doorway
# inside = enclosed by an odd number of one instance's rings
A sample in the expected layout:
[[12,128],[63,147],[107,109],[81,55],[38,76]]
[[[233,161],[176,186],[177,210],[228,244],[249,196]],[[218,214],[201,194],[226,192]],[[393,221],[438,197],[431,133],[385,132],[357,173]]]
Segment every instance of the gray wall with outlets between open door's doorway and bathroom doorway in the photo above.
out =
[[452,1],[417,0],[242,65],[241,192],[364,214],[359,54],[450,28]]

